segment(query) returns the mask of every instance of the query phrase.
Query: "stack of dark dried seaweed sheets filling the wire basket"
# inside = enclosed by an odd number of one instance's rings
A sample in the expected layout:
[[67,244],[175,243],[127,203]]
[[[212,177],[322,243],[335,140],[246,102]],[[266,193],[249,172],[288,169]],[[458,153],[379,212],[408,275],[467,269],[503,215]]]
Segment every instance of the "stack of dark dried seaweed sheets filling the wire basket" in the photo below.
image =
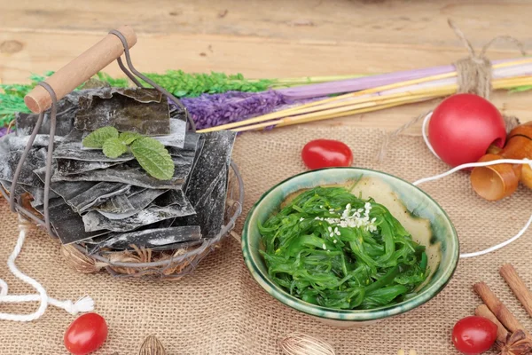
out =
[[[15,192],[19,203],[31,197],[37,215],[43,214],[47,118]],[[6,191],[36,119],[17,114],[16,133],[0,138]],[[187,131],[184,113],[152,89],[74,91],[59,101],[57,122],[49,211],[63,244],[80,243],[100,254],[133,246],[160,251],[189,248],[220,232],[234,133]],[[112,159],[82,146],[90,131],[104,126],[159,140],[172,157],[174,176],[159,180],[132,154]]]

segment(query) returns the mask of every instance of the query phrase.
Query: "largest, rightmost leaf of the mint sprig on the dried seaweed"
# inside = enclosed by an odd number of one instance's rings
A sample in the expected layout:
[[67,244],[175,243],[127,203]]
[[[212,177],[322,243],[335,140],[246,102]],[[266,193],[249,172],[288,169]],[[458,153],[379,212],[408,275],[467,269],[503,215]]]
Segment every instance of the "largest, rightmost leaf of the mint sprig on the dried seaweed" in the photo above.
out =
[[131,145],[131,153],[152,177],[169,180],[174,176],[174,162],[160,141],[153,138],[139,138]]

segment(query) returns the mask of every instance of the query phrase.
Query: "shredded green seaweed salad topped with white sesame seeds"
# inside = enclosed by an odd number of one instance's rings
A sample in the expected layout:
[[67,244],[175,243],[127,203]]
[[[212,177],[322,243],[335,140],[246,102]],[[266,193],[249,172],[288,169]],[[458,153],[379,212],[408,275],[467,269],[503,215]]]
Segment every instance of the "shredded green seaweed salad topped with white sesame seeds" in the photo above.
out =
[[387,208],[344,187],[299,194],[259,230],[270,277],[310,304],[396,304],[414,296],[429,274],[425,247]]

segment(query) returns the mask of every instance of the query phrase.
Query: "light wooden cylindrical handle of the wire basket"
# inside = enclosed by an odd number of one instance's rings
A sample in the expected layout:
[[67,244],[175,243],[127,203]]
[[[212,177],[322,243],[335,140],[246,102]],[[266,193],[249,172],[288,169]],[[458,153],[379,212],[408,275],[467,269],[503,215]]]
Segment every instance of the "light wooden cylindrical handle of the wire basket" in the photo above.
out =
[[[137,35],[133,28],[121,26],[117,30],[126,38],[129,48],[137,43]],[[60,68],[54,75],[47,78],[45,83],[48,83],[55,91],[58,100],[63,99],[79,85],[118,59],[123,52],[124,46],[121,40],[109,34],[65,67]],[[40,85],[35,86],[26,95],[24,102],[27,108],[35,114],[40,114],[51,107],[50,94]]]

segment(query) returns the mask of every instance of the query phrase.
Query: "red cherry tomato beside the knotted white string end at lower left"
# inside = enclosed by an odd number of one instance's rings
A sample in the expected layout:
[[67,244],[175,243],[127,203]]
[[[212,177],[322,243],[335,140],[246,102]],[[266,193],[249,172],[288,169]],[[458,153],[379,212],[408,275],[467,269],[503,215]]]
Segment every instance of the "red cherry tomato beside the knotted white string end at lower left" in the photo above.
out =
[[106,319],[96,313],[83,314],[66,329],[66,350],[74,355],[86,355],[98,350],[107,338]]

